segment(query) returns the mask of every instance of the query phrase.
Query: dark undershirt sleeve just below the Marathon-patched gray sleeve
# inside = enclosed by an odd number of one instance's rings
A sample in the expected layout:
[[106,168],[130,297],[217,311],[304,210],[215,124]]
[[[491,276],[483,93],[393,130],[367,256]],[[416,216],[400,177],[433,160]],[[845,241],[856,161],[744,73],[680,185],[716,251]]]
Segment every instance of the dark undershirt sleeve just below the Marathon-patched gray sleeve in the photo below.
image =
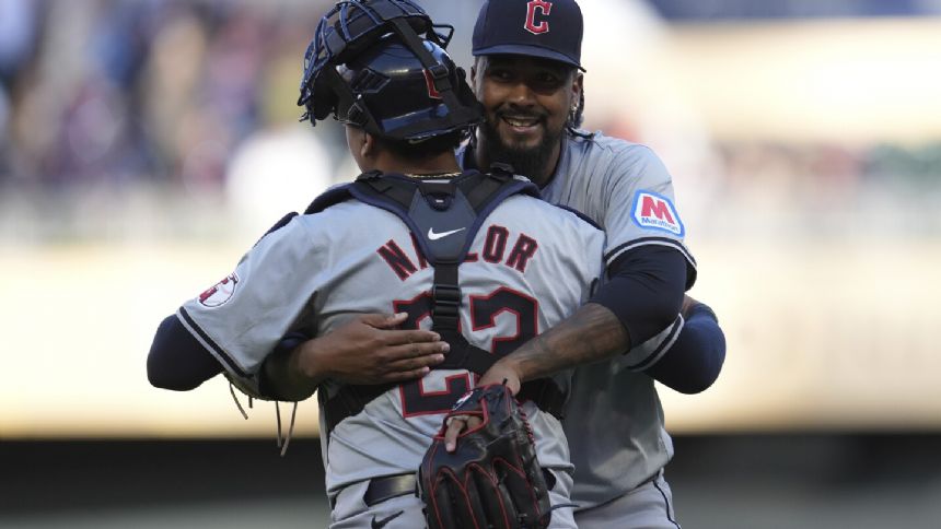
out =
[[673,247],[644,245],[620,255],[608,267],[609,280],[593,303],[614,313],[639,345],[673,324],[683,306],[686,258]]

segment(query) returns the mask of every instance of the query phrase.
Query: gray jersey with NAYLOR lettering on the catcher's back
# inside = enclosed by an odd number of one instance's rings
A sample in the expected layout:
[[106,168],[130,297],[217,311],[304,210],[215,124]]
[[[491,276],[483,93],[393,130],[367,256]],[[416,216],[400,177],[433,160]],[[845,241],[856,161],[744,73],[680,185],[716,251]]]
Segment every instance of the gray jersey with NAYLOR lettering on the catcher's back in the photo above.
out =
[[[589,298],[603,269],[603,232],[576,214],[510,197],[483,223],[461,266],[462,333],[476,346],[503,351],[559,322]],[[323,336],[351,315],[380,311],[407,311],[429,326],[432,272],[397,216],[348,200],[265,236],[232,274],[187,302],[178,316],[231,375],[252,385],[265,356],[291,330]],[[414,472],[443,413],[473,386],[467,371],[435,369],[340,421],[322,437],[328,495],[371,478]],[[327,380],[320,391],[334,395],[339,387]],[[570,472],[561,425],[532,403],[525,408],[541,463]],[[565,481],[571,483],[570,477]]]

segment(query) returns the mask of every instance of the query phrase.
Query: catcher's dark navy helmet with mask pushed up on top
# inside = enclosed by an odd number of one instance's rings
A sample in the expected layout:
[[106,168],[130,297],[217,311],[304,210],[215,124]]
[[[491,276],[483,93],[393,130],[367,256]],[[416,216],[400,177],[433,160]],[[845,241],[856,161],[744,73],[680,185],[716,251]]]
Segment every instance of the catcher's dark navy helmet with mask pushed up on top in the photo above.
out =
[[444,51],[452,33],[409,0],[337,2],[304,56],[301,119],[315,124],[333,114],[410,142],[468,131],[481,114],[464,71]]

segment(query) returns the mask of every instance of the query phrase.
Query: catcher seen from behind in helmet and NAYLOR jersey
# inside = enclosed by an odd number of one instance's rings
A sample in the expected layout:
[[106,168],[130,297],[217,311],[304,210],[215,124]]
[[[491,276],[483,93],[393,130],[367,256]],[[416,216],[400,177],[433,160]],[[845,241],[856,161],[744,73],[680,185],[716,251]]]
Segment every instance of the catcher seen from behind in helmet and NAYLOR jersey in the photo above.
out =
[[[538,199],[528,180],[458,168],[454,149],[479,110],[439,44],[403,0],[338,2],[324,16],[300,103],[312,121],[334,114],[346,125],[363,175],[279,222],[161,324],[148,357],[151,383],[170,389],[220,368],[258,395],[318,388],[333,528],[423,527],[415,472],[472,373],[569,316],[603,269],[595,226]],[[352,315],[382,311],[404,314],[405,328],[431,325],[446,358],[417,380],[367,387],[334,376],[339,355],[269,354],[292,331],[328,336]],[[266,387],[284,373],[299,387]],[[558,528],[576,527],[568,447],[551,413],[564,386],[544,379],[523,403]]]

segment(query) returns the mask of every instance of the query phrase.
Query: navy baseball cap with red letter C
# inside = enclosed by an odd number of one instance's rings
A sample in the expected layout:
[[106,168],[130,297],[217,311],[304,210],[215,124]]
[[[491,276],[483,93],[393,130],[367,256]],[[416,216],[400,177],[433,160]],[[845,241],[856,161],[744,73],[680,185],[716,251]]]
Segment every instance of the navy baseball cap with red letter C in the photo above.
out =
[[582,11],[574,0],[487,0],[477,15],[471,52],[542,57],[584,71]]

